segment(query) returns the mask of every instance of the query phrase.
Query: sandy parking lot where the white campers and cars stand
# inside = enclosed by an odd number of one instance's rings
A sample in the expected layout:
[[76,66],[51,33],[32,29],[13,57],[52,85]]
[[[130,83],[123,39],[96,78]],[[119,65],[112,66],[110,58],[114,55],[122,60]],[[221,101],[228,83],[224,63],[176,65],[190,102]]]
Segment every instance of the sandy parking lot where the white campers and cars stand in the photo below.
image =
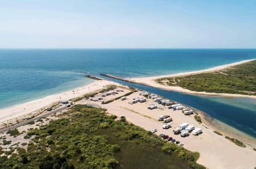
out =
[[[96,96],[97,97],[97,96]],[[157,129],[157,133],[164,132],[180,142],[185,144],[185,148],[198,151],[200,157],[197,160],[208,168],[254,168],[256,166],[256,151],[250,146],[246,148],[239,147],[233,142],[225,139],[223,136],[215,134],[211,126],[207,124],[199,124],[195,121],[194,115],[183,115],[181,111],[173,111],[167,109],[167,106],[158,105],[159,108],[149,110],[150,104],[155,104],[152,99],[147,99],[146,103],[137,103],[130,105],[132,98],[141,97],[139,92],[127,96],[127,100],[116,100],[115,102],[101,105],[107,108],[110,114],[117,116],[125,116],[126,120],[139,125],[146,130]],[[85,101],[84,101],[85,102]],[[90,101],[87,101],[92,103]],[[168,130],[162,129],[163,122],[157,121],[157,117],[162,114],[170,115],[173,118],[171,122],[172,128]],[[187,122],[189,125],[202,128],[203,133],[199,136],[190,136],[182,138],[180,135],[173,134],[172,130],[177,128],[179,124]],[[205,126],[208,128],[206,129]],[[228,135],[229,136],[229,135]],[[255,140],[254,145],[255,146]]]

